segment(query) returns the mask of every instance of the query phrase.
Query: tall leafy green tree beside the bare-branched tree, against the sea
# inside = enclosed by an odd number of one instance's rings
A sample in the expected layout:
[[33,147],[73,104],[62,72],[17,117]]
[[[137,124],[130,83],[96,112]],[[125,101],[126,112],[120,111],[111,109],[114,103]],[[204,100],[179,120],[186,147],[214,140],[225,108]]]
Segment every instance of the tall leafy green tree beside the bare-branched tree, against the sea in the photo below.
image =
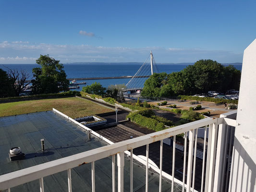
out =
[[34,80],[32,83],[33,94],[59,93],[68,91],[69,81],[63,70],[63,64],[59,60],[49,57],[49,55],[40,55],[36,60],[41,68],[33,68]]

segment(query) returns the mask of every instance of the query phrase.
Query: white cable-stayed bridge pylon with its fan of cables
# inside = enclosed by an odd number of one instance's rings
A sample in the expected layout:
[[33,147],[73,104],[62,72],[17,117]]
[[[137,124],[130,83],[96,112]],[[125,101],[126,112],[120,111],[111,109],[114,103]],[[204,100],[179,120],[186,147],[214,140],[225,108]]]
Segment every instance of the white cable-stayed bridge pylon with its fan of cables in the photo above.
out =
[[153,53],[152,51],[150,51],[150,55],[147,57],[146,61],[143,63],[140,69],[134,74],[132,79],[125,85],[126,88],[124,91],[142,89],[146,79],[154,72],[159,73],[159,70],[157,63],[153,57]]

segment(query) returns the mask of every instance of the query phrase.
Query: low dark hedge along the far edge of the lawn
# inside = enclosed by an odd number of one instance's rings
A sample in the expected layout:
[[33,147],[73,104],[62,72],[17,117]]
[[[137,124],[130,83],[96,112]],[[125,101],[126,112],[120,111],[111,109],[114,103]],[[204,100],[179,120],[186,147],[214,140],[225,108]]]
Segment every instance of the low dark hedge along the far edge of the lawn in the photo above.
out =
[[0,103],[33,100],[33,99],[44,99],[44,98],[52,98],[52,97],[62,97],[62,96],[81,96],[81,94],[79,91],[66,91],[61,93],[49,93],[49,94],[39,94],[39,95],[29,95],[29,96],[13,96],[13,97],[0,98]]

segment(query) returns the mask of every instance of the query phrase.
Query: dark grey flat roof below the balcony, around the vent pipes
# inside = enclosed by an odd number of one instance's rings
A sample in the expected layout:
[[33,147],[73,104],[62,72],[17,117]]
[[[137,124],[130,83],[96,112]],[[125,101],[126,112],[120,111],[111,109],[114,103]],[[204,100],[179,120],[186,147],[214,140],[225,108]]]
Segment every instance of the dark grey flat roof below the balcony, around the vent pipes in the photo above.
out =
[[[107,145],[97,137],[88,140],[87,132],[75,123],[53,111],[29,113],[0,118],[0,175],[32,167],[62,157],[71,156],[91,149]],[[45,152],[41,151],[41,139],[45,141]],[[25,158],[11,161],[9,150],[14,146],[21,147]],[[116,161],[117,162],[117,161]],[[134,161],[136,162],[136,161]],[[98,192],[112,191],[112,157],[95,162],[95,186]],[[138,162],[134,165],[134,191],[145,191],[145,167]],[[149,189],[158,191],[159,177],[149,171]],[[91,191],[91,165],[85,164],[72,168],[73,191]],[[117,187],[116,166],[116,187]],[[68,189],[67,171],[62,171],[44,178],[46,191],[63,192]],[[175,187],[177,191],[177,187]],[[31,181],[11,191],[38,191],[39,180]],[[164,179],[162,191],[170,191],[171,183]],[[130,191],[130,162],[125,156],[124,191]],[[175,190],[174,190],[175,191]]]

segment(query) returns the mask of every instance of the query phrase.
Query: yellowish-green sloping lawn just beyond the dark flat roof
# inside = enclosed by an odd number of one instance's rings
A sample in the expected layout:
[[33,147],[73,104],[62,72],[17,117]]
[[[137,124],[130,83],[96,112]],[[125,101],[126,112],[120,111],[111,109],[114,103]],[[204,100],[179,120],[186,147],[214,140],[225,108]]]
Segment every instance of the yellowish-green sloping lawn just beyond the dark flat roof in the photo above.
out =
[[0,117],[47,111],[56,108],[71,118],[113,111],[91,101],[76,97],[19,101],[0,104]]

